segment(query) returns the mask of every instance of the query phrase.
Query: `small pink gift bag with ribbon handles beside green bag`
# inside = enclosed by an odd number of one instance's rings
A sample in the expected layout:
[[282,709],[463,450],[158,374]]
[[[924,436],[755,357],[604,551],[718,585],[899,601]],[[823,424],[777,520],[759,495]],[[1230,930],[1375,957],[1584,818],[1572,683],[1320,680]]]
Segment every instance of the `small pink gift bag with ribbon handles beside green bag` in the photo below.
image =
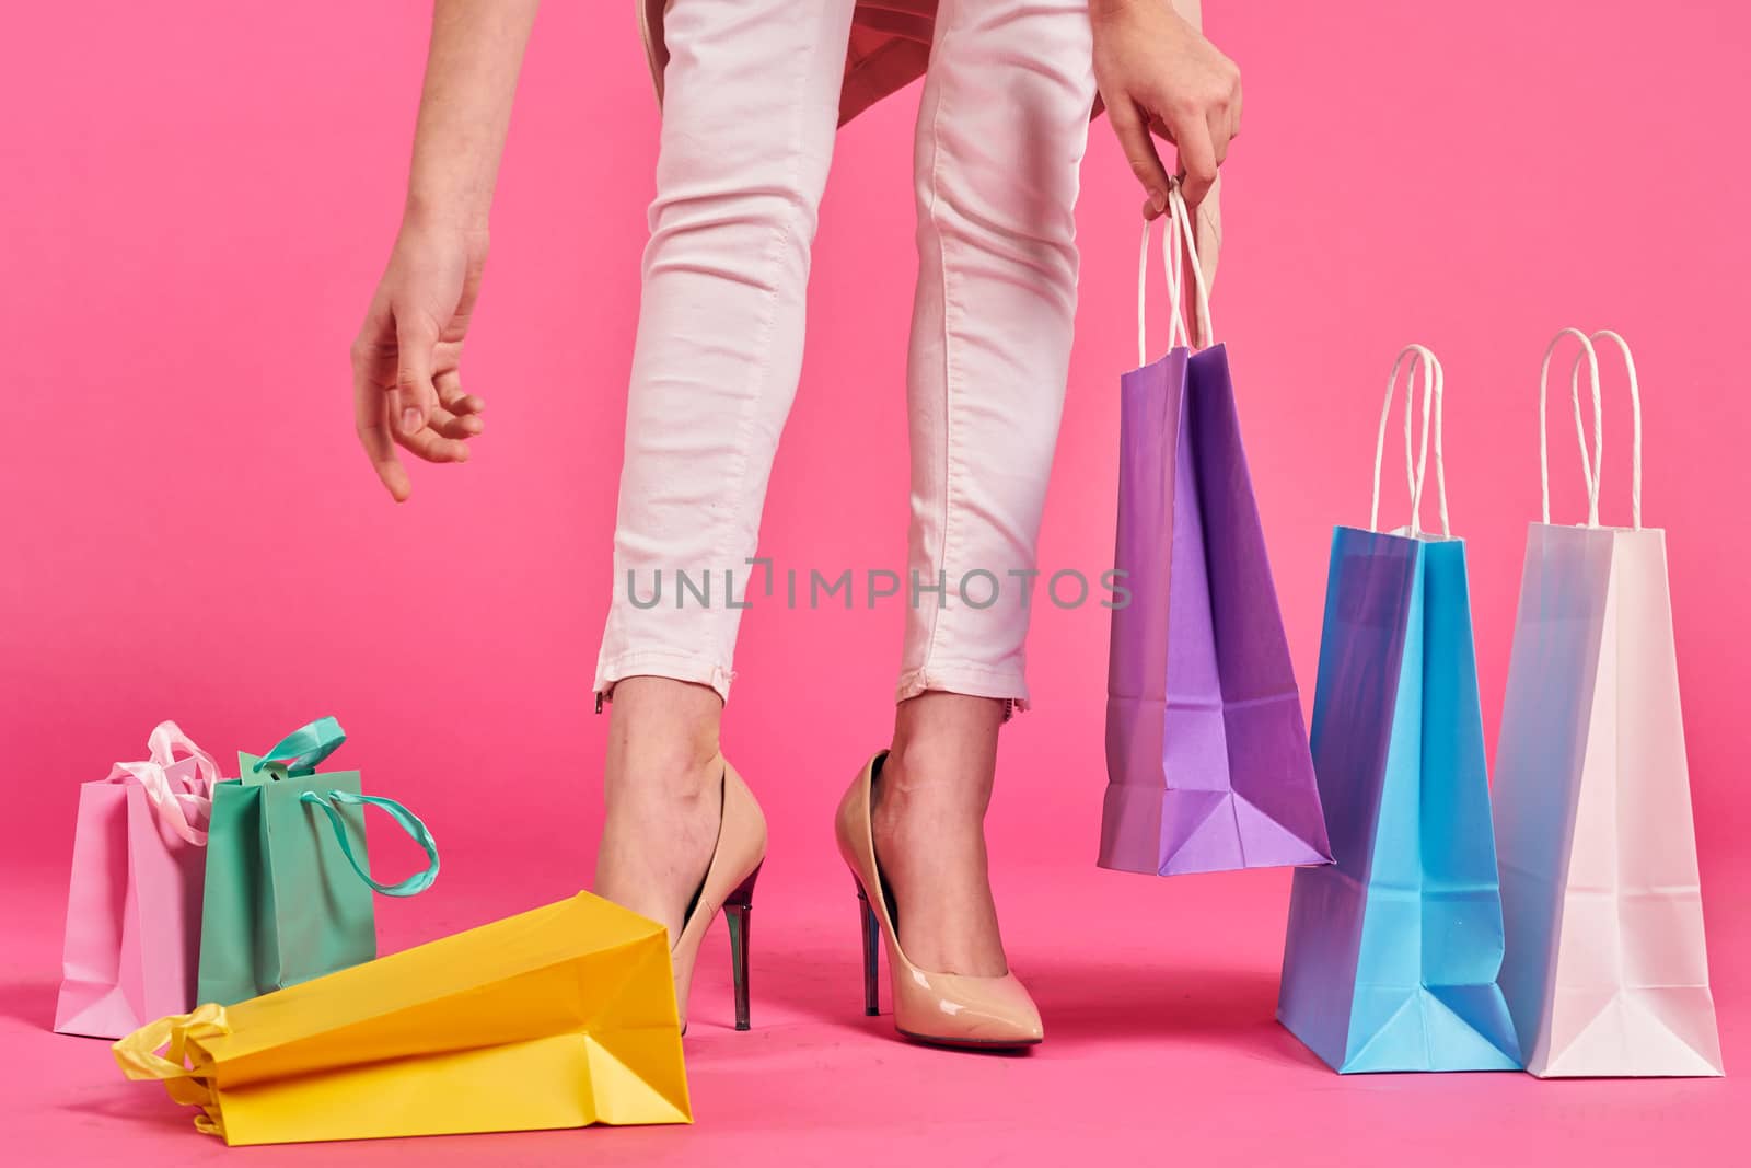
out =
[[[219,763],[175,721],[145,762],[79,790],[54,1030],[121,1038],[194,1009],[207,816]],[[186,755],[177,758],[177,753]]]

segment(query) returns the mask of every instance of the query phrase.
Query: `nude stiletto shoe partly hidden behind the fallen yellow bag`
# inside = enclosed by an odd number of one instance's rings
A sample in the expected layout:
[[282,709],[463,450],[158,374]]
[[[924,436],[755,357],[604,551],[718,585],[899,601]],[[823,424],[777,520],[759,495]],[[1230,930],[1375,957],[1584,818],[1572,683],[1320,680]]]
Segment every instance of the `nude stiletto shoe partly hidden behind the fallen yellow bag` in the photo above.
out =
[[706,881],[686,909],[681,935],[669,947],[674,968],[674,1003],[681,1012],[681,1033],[686,1033],[686,995],[693,986],[693,963],[699,944],[711,930],[718,909],[730,925],[730,975],[735,986],[735,1028],[748,1030],[748,914],[753,909],[755,881],[765,862],[765,816],[755,793],[735,774],[727,758],[723,763],[723,821],[718,825],[718,846],[711,853]]

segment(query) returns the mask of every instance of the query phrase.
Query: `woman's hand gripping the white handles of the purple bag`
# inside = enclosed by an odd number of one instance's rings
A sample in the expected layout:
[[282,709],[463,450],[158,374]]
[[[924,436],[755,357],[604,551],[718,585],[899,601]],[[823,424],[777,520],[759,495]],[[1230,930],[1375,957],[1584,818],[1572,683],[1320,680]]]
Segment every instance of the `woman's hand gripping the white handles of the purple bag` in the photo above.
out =
[[1171,186],[1150,131],[1178,149],[1180,189],[1198,207],[1240,133],[1240,68],[1168,0],[1091,0],[1089,21],[1094,81],[1149,196],[1143,215],[1166,210]]

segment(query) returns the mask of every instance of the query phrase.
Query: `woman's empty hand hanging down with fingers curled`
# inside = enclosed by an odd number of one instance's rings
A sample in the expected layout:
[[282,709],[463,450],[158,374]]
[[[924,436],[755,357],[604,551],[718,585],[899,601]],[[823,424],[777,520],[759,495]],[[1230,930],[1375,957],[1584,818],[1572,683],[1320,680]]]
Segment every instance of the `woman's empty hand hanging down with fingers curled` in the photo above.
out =
[[401,224],[389,268],[352,343],[359,441],[401,503],[411,492],[396,447],[427,462],[468,462],[483,403],[462,392],[459,366],[487,263],[487,233]]

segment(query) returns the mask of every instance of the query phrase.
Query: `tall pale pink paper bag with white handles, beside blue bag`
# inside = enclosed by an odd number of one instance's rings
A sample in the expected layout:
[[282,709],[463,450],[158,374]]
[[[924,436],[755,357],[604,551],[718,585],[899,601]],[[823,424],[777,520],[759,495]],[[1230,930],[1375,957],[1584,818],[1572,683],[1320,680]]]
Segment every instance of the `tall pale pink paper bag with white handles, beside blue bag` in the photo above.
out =
[[[1642,527],[1641,392],[1628,345],[1581,345],[1569,378],[1586,522],[1527,532],[1502,730],[1495,839],[1506,958],[1501,986],[1527,1070],[1546,1077],[1719,1075],[1721,1040],[1702,933],[1702,881],[1677,695],[1665,532]],[[1635,431],[1630,525],[1599,522],[1599,362],[1628,369]],[[1550,373],[1557,341],[1544,352]],[[1590,371],[1593,448],[1581,427]],[[1544,422],[1539,378],[1539,438]]]

